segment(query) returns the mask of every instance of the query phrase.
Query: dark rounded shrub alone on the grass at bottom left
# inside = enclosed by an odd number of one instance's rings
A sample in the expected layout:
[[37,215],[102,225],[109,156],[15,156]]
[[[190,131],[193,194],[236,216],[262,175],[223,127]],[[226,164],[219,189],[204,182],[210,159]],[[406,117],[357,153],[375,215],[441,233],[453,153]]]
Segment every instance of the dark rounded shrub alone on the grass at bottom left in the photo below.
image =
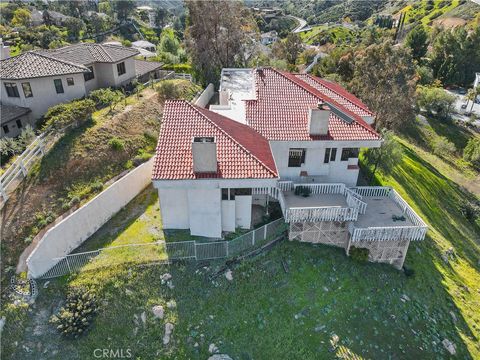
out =
[[50,323],[62,335],[78,338],[88,330],[96,313],[95,295],[83,288],[72,288],[67,294],[65,306],[50,318]]

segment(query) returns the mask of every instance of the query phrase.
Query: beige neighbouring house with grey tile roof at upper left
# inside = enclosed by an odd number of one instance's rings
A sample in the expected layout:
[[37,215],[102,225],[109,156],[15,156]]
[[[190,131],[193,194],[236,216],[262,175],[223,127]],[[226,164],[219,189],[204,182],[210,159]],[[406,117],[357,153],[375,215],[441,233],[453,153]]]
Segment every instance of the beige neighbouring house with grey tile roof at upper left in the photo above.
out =
[[80,43],[1,60],[2,103],[27,107],[38,119],[53,105],[130,83],[137,55],[123,46]]

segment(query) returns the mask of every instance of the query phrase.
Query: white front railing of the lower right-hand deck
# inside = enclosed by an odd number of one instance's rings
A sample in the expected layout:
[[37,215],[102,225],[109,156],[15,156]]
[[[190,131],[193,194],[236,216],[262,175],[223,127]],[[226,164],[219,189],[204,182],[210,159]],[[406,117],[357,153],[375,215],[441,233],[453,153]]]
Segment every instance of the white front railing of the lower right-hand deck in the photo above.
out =
[[423,240],[427,230],[427,226],[370,227],[365,229],[353,227],[352,242]]

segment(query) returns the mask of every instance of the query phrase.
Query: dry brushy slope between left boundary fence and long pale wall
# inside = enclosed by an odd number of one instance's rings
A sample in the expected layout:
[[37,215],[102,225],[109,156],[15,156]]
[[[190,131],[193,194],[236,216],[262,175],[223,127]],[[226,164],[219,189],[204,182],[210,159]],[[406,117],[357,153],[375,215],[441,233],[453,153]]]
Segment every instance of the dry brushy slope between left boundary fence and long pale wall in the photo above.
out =
[[[188,96],[199,87],[185,80]],[[155,91],[130,96],[113,112],[67,133],[32,169],[2,209],[2,269],[14,269],[32,238],[69,208],[100,192],[106,182],[149,159],[155,150],[162,104]],[[2,277],[7,273],[2,271]]]

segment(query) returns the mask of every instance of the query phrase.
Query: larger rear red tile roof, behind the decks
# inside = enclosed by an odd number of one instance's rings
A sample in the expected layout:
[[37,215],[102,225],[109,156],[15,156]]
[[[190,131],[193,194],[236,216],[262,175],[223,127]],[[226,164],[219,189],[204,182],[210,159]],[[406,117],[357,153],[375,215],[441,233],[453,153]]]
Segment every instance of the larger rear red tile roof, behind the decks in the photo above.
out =
[[[313,77],[308,77],[307,82],[303,76],[272,68],[255,71],[254,78],[256,99],[245,100],[246,121],[268,140],[380,139],[380,135],[360,116],[372,113],[339,85],[324,80],[319,82]],[[311,136],[307,126],[309,109],[316,107],[321,100],[335,105],[354,121],[348,123],[332,113],[328,135]]]

